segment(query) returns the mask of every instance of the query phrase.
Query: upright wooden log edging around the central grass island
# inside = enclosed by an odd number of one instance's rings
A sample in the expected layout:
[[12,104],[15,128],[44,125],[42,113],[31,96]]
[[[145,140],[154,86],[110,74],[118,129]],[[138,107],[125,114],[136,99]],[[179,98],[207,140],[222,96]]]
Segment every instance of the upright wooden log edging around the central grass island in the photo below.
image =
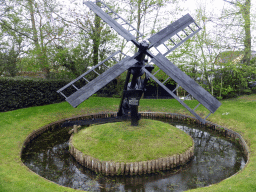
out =
[[177,166],[184,165],[194,156],[194,141],[192,140],[192,147],[187,149],[182,154],[177,154],[170,157],[131,163],[100,161],[99,159],[83,154],[81,151],[76,149],[72,144],[72,138],[73,135],[69,140],[70,154],[84,167],[87,167],[96,173],[102,173],[103,175],[142,175],[156,173],[162,170],[170,170]]

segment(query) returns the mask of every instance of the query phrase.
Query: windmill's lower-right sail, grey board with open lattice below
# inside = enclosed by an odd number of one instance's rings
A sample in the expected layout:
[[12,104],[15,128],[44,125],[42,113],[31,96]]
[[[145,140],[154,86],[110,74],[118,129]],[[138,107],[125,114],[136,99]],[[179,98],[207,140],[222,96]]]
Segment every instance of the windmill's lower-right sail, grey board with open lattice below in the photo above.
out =
[[[175,66],[171,61],[161,54],[153,57],[151,60],[156,64],[162,71],[164,71],[169,77],[171,77],[179,86],[184,88],[192,97],[194,97],[200,104],[207,108],[211,113],[214,113],[221,105],[221,103],[213,97],[204,88],[198,85],[192,78],[181,71],[177,66]],[[170,91],[164,83],[161,83],[154,75],[148,72],[145,67],[143,70],[148,76],[154,79],[161,87],[163,87],[169,94],[171,94],[175,99],[177,99],[184,107],[186,107],[197,119],[201,122],[205,122],[199,115],[195,113],[195,109],[189,108],[183,101],[181,101],[175,94],[174,91]],[[210,115],[209,114],[209,115]],[[208,116],[209,116],[208,115]],[[208,117],[207,116],[207,117]],[[207,118],[206,117],[206,118]]]

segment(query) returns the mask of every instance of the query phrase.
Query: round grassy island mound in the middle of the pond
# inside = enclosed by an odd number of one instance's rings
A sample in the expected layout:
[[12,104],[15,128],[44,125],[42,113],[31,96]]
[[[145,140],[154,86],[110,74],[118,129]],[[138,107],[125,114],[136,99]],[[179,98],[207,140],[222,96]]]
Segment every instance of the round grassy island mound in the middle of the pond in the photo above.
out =
[[74,147],[100,161],[139,162],[182,154],[193,145],[183,131],[161,121],[142,119],[90,126],[74,134]]

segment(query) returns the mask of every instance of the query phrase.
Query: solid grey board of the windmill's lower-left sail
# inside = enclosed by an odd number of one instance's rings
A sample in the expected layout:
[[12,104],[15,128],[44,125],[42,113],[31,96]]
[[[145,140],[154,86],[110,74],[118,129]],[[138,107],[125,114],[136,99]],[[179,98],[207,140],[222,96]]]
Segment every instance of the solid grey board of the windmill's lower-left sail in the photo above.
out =
[[[79,104],[81,104],[83,101],[85,101],[90,96],[95,94],[102,87],[104,87],[109,82],[114,80],[116,77],[121,75],[128,68],[136,64],[136,62],[137,60],[135,60],[133,57],[127,56],[122,61],[118,62],[113,67],[109,68],[104,73],[90,81],[85,86],[81,87],[80,89],[77,89],[77,91],[74,92],[72,95],[66,97],[66,101],[69,102],[70,105],[72,105],[73,107],[77,107]],[[68,85],[70,84],[71,83],[69,83]],[[58,90],[58,92],[61,91],[63,91],[63,88]]]

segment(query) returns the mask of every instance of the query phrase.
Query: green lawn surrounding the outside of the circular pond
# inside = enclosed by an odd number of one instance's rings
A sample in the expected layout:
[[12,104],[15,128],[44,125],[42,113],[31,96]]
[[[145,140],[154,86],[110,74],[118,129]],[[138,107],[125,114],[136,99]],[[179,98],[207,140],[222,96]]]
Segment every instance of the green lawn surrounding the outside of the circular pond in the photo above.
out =
[[[195,105],[194,101],[187,103]],[[22,143],[33,130],[51,122],[87,113],[117,111],[118,105],[119,99],[92,97],[75,109],[64,102],[0,113],[0,191],[75,191],[49,182],[23,166]],[[198,110],[207,114],[201,106]],[[175,100],[141,100],[139,111],[189,114]],[[250,161],[233,177],[192,191],[256,191],[256,95],[224,100],[208,119],[240,133],[250,148]]]

